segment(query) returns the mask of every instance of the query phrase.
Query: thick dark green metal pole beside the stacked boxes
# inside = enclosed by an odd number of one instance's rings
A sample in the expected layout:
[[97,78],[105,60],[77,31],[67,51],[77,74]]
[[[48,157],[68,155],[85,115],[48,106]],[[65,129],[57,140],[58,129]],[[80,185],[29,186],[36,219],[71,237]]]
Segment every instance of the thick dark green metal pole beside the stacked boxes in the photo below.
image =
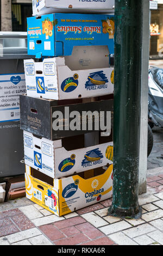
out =
[[109,214],[133,218],[141,215],[138,186],[142,2],[115,0],[114,178]]

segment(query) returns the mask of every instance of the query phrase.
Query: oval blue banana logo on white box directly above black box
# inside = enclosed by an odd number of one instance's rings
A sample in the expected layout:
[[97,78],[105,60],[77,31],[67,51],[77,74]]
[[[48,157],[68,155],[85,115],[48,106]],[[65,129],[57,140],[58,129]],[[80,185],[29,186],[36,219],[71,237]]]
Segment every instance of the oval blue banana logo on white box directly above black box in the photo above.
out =
[[73,77],[66,78],[61,84],[61,90],[64,93],[71,93],[78,87],[78,74],[74,74]]

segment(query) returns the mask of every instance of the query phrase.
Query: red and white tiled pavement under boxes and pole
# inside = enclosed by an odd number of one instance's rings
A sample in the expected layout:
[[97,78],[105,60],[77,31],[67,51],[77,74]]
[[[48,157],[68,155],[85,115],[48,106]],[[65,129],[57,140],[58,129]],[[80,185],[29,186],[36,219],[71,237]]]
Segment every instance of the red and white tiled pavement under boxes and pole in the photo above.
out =
[[142,218],[111,217],[111,199],[62,217],[26,198],[0,204],[0,245],[163,245],[163,174],[149,176]]

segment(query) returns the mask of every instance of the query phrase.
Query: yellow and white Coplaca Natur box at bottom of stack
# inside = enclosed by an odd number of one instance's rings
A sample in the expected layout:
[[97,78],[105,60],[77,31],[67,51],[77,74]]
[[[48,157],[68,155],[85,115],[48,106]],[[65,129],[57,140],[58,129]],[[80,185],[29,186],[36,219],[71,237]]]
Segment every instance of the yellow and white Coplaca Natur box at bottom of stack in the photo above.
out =
[[26,166],[26,197],[55,215],[66,215],[111,198],[111,175],[112,164],[62,179]]

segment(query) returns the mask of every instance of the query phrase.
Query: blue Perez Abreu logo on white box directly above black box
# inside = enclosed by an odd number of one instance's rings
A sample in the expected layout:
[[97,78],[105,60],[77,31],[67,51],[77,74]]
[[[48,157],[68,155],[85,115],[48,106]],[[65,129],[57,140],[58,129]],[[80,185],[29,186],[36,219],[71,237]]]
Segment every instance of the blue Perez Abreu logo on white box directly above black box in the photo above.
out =
[[[105,76],[103,71],[93,72],[87,78],[87,82],[85,83],[85,88],[90,90],[95,89],[103,89],[107,88],[105,84],[108,83],[108,78]],[[94,87],[92,87],[94,86]]]

